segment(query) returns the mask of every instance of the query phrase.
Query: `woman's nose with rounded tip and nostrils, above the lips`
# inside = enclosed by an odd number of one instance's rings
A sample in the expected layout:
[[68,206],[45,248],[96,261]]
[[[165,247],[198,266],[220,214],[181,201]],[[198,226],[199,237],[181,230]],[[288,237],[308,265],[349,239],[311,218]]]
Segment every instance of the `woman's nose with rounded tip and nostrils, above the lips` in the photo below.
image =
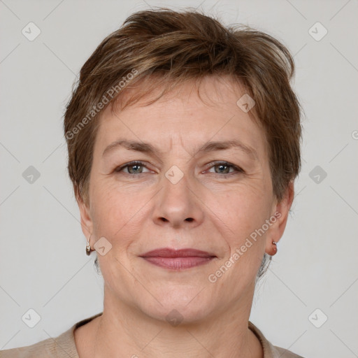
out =
[[193,183],[189,183],[185,175],[175,184],[165,177],[162,182],[162,189],[153,198],[155,224],[173,229],[199,226],[203,222],[204,205]]

